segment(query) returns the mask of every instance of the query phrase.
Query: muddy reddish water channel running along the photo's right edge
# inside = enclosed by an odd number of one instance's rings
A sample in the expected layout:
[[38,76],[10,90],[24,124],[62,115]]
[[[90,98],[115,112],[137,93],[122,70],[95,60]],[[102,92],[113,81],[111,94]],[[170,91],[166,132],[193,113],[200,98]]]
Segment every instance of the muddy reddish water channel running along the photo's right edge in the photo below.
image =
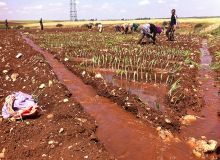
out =
[[201,48],[201,65],[198,80],[201,84],[200,92],[205,100],[205,107],[198,119],[191,126],[184,128],[184,136],[199,138],[206,136],[208,139],[217,140],[220,143],[220,118],[217,111],[220,110],[220,96],[218,88],[214,86],[215,73],[210,69],[212,56],[208,51],[207,41],[204,40]]

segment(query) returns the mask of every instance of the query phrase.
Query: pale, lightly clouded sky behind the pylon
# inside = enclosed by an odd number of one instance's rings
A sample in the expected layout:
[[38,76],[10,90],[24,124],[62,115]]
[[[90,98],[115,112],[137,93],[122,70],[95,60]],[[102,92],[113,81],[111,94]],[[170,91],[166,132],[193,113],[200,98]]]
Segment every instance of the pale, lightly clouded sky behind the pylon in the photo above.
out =
[[[70,0],[0,0],[0,19],[69,20]],[[220,0],[77,0],[78,19],[220,16]]]

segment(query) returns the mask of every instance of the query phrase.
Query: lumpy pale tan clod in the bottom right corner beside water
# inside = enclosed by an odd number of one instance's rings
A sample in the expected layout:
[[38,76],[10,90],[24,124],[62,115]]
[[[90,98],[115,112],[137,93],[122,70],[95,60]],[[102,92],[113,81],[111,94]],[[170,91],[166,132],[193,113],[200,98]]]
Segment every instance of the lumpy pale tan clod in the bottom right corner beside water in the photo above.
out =
[[204,158],[208,152],[214,152],[218,142],[215,140],[197,140],[191,137],[188,144],[193,148],[193,154],[199,158]]

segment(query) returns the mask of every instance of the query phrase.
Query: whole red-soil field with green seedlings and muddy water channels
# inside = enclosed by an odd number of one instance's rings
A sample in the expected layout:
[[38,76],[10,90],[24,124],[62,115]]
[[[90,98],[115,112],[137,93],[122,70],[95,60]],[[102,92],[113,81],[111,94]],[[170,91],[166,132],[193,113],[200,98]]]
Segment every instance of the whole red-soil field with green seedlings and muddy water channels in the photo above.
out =
[[[11,92],[15,87],[30,93],[51,79],[54,85],[46,85],[38,97],[42,105],[51,98],[39,118],[49,130],[40,128],[39,119],[16,125],[3,120],[0,147],[8,159],[14,158],[6,143],[7,138],[15,143],[6,137],[12,132],[19,135],[14,147],[22,143],[26,148],[21,159],[218,160],[220,39],[219,24],[212,21],[182,20],[175,41],[167,41],[162,33],[156,45],[147,39],[138,45],[139,32],[115,33],[107,22],[103,33],[96,28],[68,28],[62,22],[66,27],[44,31],[1,30],[0,89]],[[24,56],[15,59],[19,52]],[[9,77],[13,72],[22,73],[16,84]],[[8,92],[1,93],[2,103]],[[54,117],[48,120],[50,114]],[[31,132],[26,126],[30,124],[35,131],[43,130],[34,148],[25,147],[34,138],[27,137],[27,143],[19,140],[25,135],[17,127],[20,124],[26,132]],[[51,147],[50,140],[59,143]]]

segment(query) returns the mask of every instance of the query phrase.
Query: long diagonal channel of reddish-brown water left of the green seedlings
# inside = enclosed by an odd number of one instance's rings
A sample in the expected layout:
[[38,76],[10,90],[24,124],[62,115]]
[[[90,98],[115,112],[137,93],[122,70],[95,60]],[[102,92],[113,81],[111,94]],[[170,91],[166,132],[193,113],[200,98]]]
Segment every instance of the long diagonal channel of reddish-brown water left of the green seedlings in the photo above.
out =
[[[152,128],[150,124],[141,122],[130,113],[122,110],[121,107],[117,106],[117,104],[111,102],[109,99],[97,96],[97,93],[91,86],[85,85],[80,78],[66,69],[62,63],[58,62],[52,54],[43,51],[32,40],[24,35],[22,36],[28,45],[45,57],[58,79],[73,94],[72,97],[96,119],[98,123],[97,136],[99,140],[117,159],[195,159],[192,154],[192,149],[186,144],[184,138],[189,135],[194,136],[194,132],[192,133],[190,128],[186,129],[189,134],[183,134],[184,137],[180,138],[180,142],[163,142],[159,138],[156,130]],[[209,88],[209,86],[206,87]],[[216,103],[218,102],[216,101]],[[217,123],[214,122],[211,124],[215,125],[213,127],[217,125]],[[198,125],[200,125],[200,123]],[[194,127],[200,130],[197,125]],[[211,127],[211,125],[206,127]],[[205,130],[211,131],[211,128],[205,128]]]

